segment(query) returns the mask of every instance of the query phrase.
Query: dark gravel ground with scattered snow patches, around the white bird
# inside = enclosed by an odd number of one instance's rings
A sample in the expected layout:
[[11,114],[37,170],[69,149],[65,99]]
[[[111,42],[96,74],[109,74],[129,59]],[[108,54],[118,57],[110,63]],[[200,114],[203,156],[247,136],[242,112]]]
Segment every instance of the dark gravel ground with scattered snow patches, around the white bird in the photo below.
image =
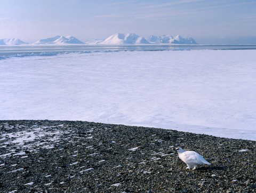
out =
[[[0,121],[0,192],[255,192],[256,142],[160,128]],[[175,147],[212,163],[186,170]]]

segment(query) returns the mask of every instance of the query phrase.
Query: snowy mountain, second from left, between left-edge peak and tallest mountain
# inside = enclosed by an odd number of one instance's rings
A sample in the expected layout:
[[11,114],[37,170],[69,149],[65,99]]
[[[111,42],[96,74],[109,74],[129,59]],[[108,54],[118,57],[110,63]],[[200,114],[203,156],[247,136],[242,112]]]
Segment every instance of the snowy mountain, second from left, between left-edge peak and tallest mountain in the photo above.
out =
[[73,36],[55,36],[46,39],[40,39],[34,44],[84,44]]

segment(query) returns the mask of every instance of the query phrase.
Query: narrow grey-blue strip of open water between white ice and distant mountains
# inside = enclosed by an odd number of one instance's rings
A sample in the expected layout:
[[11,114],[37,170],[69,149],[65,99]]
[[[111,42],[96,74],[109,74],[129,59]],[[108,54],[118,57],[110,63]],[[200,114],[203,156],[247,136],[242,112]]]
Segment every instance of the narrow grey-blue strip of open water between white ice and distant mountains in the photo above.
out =
[[252,50],[256,45],[17,45],[0,46],[0,60],[11,57],[119,51]]

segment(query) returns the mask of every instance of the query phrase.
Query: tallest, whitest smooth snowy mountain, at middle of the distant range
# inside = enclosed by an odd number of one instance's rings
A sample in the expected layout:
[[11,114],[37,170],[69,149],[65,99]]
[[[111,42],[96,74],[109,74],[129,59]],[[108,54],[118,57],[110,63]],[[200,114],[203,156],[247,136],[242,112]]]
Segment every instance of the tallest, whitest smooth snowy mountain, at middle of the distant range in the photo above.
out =
[[137,34],[114,34],[101,44],[149,44],[149,42]]

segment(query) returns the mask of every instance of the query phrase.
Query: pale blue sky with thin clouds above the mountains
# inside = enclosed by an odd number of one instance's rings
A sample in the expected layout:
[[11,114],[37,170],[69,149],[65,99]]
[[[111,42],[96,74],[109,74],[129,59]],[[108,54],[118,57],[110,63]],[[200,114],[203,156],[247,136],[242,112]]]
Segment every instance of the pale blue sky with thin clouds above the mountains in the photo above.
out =
[[255,0],[0,0],[0,39],[56,35],[86,42],[116,33],[256,44]]

